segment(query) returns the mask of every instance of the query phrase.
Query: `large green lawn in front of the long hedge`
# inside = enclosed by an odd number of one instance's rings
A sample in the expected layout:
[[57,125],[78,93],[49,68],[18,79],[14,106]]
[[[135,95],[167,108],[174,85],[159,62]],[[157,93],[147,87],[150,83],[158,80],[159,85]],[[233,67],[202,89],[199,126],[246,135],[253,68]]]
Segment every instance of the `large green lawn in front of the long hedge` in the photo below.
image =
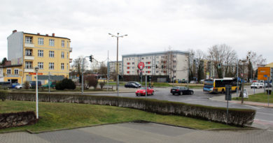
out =
[[[35,102],[0,101],[0,113],[21,111],[35,111]],[[13,130],[31,130],[36,132],[134,120],[154,121],[197,129],[237,128],[235,126],[227,126],[223,123],[214,123],[184,116],[160,115],[125,107],[40,102],[38,123],[31,126],[1,129],[0,133]]]

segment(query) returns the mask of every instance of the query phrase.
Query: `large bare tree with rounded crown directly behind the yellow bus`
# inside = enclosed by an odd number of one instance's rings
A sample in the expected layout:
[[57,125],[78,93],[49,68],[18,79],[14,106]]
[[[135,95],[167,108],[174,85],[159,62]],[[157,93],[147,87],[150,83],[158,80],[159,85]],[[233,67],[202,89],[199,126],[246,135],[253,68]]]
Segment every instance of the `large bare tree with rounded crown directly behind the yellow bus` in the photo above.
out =
[[214,45],[209,48],[208,59],[214,63],[218,78],[223,78],[223,72],[228,75],[228,68],[237,59],[237,54],[228,45]]

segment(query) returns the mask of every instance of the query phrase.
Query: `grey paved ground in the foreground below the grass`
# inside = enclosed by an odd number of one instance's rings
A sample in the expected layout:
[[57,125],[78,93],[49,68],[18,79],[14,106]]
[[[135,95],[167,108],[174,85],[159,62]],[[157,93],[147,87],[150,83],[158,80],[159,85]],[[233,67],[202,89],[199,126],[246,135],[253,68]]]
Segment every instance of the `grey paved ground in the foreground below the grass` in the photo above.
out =
[[272,143],[273,130],[193,130],[158,123],[119,123],[48,133],[0,134],[0,143],[202,142]]

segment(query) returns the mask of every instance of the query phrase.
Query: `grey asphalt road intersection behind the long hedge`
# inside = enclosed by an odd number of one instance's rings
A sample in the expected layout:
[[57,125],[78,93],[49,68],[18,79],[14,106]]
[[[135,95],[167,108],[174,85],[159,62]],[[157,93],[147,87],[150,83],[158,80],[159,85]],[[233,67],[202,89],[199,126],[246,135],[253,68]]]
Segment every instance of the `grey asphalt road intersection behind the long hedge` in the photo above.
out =
[[[120,89],[123,89],[120,86]],[[214,106],[214,107],[227,107],[226,102],[216,101],[216,100],[209,100],[209,98],[213,96],[223,96],[223,94],[211,94],[205,93],[202,89],[193,89],[193,95],[181,95],[181,96],[173,96],[170,93],[171,87],[167,88],[155,88],[155,95],[147,96],[147,98],[155,98],[158,100],[169,100],[169,101],[176,101],[181,103],[191,103],[197,105],[207,105],[207,106]],[[245,88],[248,91],[248,94],[253,93],[253,89],[249,87]],[[137,90],[137,89],[136,89]],[[131,90],[132,91],[132,90]],[[255,93],[263,92],[264,89],[255,89]],[[239,93],[238,93],[239,94]],[[99,96],[117,96],[117,93],[92,93],[92,95],[99,95]],[[146,98],[146,96],[136,96],[135,93],[119,93],[120,97],[133,97],[133,98]],[[237,93],[232,93],[232,97],[237,97]],[[269,128],[273,127],[273,109],[267,107],[256,107],[250,105],[241,105],[237,103],[229,103],[230,108],[245,108],[245,109],[253,109],[256,110],[256,115],[254,119],[253,126],[258,128]]]

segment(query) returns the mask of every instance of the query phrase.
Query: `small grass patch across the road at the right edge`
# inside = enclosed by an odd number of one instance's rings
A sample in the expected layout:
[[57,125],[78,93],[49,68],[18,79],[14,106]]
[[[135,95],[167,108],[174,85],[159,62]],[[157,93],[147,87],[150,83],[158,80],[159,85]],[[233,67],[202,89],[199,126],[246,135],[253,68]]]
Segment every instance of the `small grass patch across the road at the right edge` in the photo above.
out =
[[[236,98],[232,98],[232,100],[236,100]],[[238,98],[238,100],[241,100],[241,98]],[[268,96],[267,93],[256,93],[255,95],[248,96],[248,98],[244,98],[246,101],[253,101],[253,102],[259,102],[259,103],[267,103],[268,102]],[[269,95],[269,103],[273,103],[273,95]]]

